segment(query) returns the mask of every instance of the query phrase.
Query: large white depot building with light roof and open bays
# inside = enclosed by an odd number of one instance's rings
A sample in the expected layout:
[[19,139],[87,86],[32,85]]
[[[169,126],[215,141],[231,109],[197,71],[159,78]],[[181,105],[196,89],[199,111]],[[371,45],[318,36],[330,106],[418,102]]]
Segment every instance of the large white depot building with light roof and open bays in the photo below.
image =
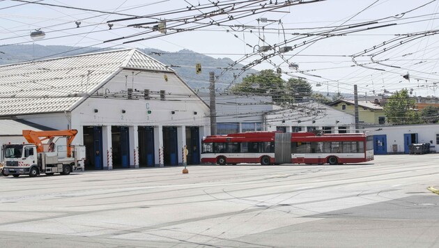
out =
[[[72,144],[86,146],[86,170],[199,164],[209,112],[174,70],[137,49],[0,66],[0,118],[78,130]],[[13,133],[0,142],[17,141]]]

